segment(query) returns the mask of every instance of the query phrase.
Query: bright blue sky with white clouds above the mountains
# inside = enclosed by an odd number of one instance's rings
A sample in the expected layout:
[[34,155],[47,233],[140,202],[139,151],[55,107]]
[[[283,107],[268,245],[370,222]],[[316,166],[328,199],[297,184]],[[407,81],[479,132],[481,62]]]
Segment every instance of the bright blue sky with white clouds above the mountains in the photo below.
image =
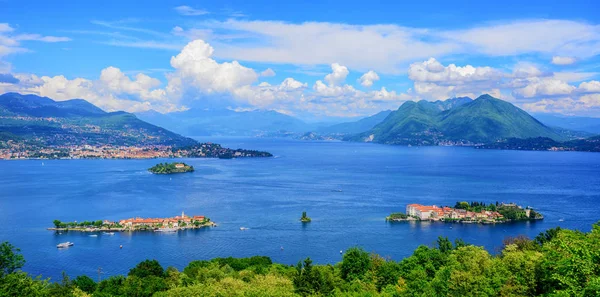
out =
[[548,0],[0,0],[0,93],[305,120],[489,93],[532,113],[600,117],[598,11]]

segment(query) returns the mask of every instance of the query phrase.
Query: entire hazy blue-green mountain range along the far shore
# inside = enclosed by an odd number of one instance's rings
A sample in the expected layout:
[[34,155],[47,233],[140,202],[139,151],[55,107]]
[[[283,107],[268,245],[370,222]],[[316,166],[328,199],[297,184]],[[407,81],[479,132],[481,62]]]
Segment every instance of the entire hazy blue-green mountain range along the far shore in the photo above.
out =
[[[136,117],[126,112],[105,112],[82,99],[54,101],[17,93],[0,96],[0,116],[3,137],[9,133],[25,139],[42,139],[46,144],[178,146],[194,143],[174,132],[189,136],[298,138],[310,134],[307,139],[335,138],[400,145],[473,145],[540,137],[561,142],[581,138],[580,134],[556,128],[563,125],[561,118],[542,117],[553,124],[545,125],[511,103],[490,95],[475,100],[460,97],[433,102],[408,101],[395,111],[382,111],[358,121],[333,125],[306,123],[289,115],[261,110],[192,109],[169,114],[148,111]],[[593,124],[595,120],[575,118],[578,125],[570,127]]]

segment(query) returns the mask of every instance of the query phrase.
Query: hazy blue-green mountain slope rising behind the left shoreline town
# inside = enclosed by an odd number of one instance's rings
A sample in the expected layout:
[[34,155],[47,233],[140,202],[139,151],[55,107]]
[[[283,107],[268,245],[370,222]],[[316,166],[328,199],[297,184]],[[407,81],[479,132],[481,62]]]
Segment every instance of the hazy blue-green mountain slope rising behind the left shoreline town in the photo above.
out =
[[82,100],[0,95],[0,133],[44,145],[169,145],[197,142],[126,112],[105,112]]

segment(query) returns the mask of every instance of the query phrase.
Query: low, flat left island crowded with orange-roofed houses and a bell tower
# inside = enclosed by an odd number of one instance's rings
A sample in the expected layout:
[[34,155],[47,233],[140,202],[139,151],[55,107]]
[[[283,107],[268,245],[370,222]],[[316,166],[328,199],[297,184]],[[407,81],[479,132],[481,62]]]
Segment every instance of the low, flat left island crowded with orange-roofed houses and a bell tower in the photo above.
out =
[[185,229],[197,229],[204,227],[216,227],[217,224],[209,218],[196,215],[188,216],[181,212],[180,216],[169,218],[129,218],[119,221],[98,220],[83,222],[61,222],[54,220],[54,227],[48,228],[52,231],[81,231],[81,232],[125,232],[125,231],[154,231],[154,232],[177,232]]

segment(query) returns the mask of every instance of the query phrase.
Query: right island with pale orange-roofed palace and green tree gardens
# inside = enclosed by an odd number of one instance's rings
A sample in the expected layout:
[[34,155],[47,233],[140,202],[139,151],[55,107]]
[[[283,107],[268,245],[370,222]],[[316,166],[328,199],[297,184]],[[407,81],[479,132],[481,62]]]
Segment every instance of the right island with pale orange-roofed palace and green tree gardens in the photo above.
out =
[[506,223],[541,220],[544,216],[531,207],[515,203],[457,202],[454,207],[409,204],[406,213],[392,213],[387,221],[439,221],[460,223]]

